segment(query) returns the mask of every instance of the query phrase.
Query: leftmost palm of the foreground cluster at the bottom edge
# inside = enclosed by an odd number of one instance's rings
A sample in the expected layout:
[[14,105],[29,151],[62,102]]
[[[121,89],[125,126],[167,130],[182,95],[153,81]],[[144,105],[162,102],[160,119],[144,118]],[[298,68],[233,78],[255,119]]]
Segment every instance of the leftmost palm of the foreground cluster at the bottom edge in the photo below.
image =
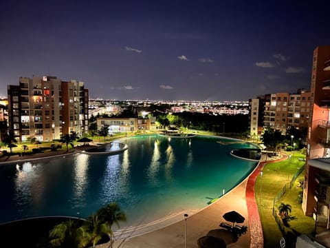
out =
[[53,227],[50,231],[52,247],[80,248],[80,220],[69,219]]

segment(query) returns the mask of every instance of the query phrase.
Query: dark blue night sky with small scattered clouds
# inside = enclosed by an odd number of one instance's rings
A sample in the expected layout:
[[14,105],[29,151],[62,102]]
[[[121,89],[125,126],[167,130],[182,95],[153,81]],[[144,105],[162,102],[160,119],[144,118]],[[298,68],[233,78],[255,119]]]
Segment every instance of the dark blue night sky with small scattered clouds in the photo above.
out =
[[19,76],[91,98],[248,101],[310,87],[329,1],[0,1],[0,96]]

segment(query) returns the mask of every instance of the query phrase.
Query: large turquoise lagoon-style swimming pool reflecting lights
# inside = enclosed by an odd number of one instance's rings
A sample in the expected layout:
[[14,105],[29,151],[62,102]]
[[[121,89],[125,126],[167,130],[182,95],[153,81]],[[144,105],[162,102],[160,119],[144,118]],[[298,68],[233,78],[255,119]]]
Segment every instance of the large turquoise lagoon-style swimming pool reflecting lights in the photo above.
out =
[[86,218],[110,202],[126,213],[127,223],[121,227],[201,209],[257,165],[230,155],[232,149],[254,145],[228,141],[133,136],[120,141],[129,147],[120,154],[1,165],[0,223],[36,216]]

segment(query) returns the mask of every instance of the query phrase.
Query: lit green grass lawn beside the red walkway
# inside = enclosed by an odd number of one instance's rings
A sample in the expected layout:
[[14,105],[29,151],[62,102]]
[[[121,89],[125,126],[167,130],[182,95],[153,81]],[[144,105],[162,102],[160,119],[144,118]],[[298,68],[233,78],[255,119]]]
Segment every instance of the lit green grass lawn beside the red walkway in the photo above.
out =
[[291,215],[295,216],[295,220],[289,221],[290,227],[285,227],[285,231],[290,231],[296,234],[310,234],[314,231],[314,219],[303,214],[301,204],[298,203],[298,194],[303,191],[300,187],[300,180],[304,178],[302,172],[296,179],[292,189],[289,189],[289,180],[292,179],[299,167],[305,164],[305,161],[300,161],[298,158],[305,158],[305,155],[295,151],[291,159],[277,163],[268,163],[263,169],[263,176],[258,176],[255,185],[255,197],[258,204],[261,223],[263,225],[264,247],[279,247],[280,238],[283,237],[281,229],[272,215],[274,198],[281,192],[281,189],[287,185],[287,192],[284,196],[275,202],[277,210],[280,203],[289,204],[292,206]]

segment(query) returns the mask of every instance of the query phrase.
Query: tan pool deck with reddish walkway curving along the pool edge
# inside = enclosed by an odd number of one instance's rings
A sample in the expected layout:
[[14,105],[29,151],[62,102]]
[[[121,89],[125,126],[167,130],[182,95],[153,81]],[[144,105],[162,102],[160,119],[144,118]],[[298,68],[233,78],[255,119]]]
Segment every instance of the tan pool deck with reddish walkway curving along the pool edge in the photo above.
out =
[[[66,156],[81,152],[80,149],[71,150],[70,152],[45,152],[23,157],[18,155],[6,156],[0,158],[0,165]],[[190,211],[187,211],[186,213],[189,216],[186,220],[184,219],[184,213],[181,213],[168,218],[168,220],[151,223],[140,228],[131,227],[131,229],[126,229],[122,233],[115,234],[116,241],[113,244],[113,248],[192,248],[199,247],[198,240],[204,236],[221,238],[225,241],[227,247],[263,247],[263,229],[254,198],[254,183],[265,163],[272,163],[286,158],[285,154],[283,154],[282,158],[267,158],[267,161],[263,158],[256,169],[254,169],[254,172],[230,192],[198,212],[190,213]],[[219,224],[225,221],[222,218],[223,214],[232,210],[244,216],[245,221],[241,225],[248,226],[247,233],[239,237],[235,236],[231,231],[219,227]],[[97,247],[109,247],[109,243],[98,245]]]

